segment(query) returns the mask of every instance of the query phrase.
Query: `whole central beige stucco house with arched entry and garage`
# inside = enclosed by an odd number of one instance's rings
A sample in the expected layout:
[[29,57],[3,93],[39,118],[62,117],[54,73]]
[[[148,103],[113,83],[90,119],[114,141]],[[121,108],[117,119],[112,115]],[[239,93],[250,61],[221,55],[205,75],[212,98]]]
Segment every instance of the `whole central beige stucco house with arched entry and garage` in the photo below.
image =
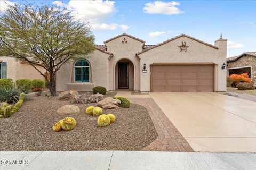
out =
[[81,60],[71,61],[57,72],[57,91],[136,92],[226,91],[227,39],[214,45],[180,35],[158,45],[123,33],[97,46]]

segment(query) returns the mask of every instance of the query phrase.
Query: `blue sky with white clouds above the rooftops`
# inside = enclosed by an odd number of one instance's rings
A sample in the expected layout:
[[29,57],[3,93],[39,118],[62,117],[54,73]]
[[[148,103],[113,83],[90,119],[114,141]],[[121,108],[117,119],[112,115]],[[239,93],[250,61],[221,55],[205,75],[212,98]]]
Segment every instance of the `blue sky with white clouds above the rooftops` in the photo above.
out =
[[158,44],[181,33],[212,44],[222,33],[223,38],[228,39],[227,57],[256,51],[256,1],[67,0],[44,3],[66,7],[80,20],[90,21],[95,44],[99,45],[123,32],[145,40],[146,44]]

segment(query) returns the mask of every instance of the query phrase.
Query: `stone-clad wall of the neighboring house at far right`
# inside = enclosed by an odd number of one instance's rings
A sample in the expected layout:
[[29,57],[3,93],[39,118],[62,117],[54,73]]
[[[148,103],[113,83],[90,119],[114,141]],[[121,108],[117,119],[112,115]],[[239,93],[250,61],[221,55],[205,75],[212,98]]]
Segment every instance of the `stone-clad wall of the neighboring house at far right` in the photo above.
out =
[[256,57],[255,56],[242,56],[241,58],[238,58],[238,60],[233,62],[227,63],[227,69],[229,68],[235,68],[235,67],[246,67],[246,66],[252,66],[252,72],[251,72],[251,78],[252,83],[256,84]]

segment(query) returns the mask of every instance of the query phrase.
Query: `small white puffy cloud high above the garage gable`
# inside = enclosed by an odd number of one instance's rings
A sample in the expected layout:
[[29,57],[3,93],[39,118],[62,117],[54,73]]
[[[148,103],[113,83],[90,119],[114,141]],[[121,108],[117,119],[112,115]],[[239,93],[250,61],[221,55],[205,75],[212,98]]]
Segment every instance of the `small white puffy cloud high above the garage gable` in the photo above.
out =
[[162,2],[155,1],[154,3],[147,3],[143,8],[144,12],[150,14],[166,14],[166,15],[174,15],[184,13],[176,6],[179,6],[180,3],[172,1],[172,2]]

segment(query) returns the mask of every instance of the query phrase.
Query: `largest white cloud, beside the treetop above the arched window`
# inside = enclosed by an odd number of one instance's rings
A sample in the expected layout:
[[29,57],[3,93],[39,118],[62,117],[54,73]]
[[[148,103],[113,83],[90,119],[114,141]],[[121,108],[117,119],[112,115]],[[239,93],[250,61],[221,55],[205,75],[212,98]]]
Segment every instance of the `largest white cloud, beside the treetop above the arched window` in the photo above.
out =
[[85,1],[76,1],[70,0],[67,4],[62,3],[61,1],[54,1],[54,5],[65,7],[68,11],[71,12],[77,19],[83,22],[90,22],[92,29],[97,31],[102,30],[115,30],[122,28],[123,30],[129,29],[127,25],[119,25],[116,23],[102,23],[107,16],[115,13],[115,2],[106,0],[85,0]]

